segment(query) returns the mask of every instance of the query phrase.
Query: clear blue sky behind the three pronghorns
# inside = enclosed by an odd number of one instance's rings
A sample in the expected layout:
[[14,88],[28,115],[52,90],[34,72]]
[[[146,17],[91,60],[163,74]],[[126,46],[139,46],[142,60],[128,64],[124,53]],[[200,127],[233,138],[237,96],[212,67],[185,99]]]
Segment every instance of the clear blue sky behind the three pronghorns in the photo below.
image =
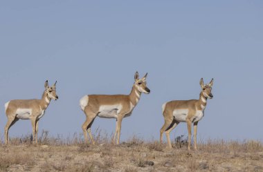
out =
[[[199,80],[215,82],[201,140],[263,141],[262,1],[1,1],[0,135],[10,99],[40,98],[46,79],[57,80],[39,131],[82,133],[85,94],[128,94],[136,70],[148,73],[142,95],[123,120],[121,141],[136,134],[158,139],[161,105],[198,99]],[[116,120],[96,118],[109,135]],[[19,120],[10,136],[32,132]],[[187,135],[185,123],[171,133]]]

